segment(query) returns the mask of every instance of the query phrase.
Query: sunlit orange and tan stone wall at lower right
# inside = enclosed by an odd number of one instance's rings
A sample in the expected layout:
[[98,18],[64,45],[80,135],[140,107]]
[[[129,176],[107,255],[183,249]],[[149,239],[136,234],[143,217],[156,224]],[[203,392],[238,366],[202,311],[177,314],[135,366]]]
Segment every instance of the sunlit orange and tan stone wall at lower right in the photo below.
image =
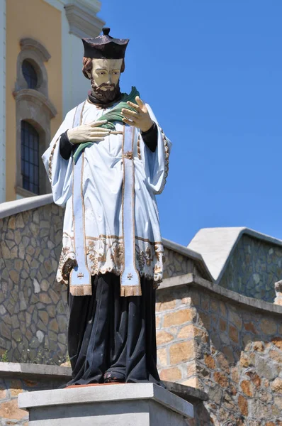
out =
[[160,376],[208,393],[210,418],[190,426],[282,426],[282,309],[238,303],[217,288],[158,290]]

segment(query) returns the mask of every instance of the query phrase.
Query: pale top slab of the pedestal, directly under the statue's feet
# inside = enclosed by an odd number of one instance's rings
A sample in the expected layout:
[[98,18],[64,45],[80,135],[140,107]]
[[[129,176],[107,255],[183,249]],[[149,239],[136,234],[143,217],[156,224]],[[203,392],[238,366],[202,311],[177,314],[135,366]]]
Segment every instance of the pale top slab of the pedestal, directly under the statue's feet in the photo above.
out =
[[154,400],[185,417],[193,417],[191,403],[154,383],[126,383],[24,392],[18,395],[18,408],[47,408],[54,405],[113,403],[125,400]]

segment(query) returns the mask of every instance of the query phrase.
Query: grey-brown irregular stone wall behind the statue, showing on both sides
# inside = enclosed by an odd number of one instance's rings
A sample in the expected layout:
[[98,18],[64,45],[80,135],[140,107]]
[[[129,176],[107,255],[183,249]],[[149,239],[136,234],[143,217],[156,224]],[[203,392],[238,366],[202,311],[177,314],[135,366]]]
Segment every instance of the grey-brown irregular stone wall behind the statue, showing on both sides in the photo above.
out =
[[[0,357],[61,364],[67,357],[67,288],[55,281],[63,209],[46,204],[0,219]],[[198,273],[165,249],[164,278]],[[1,358],[0,358],[1,359]]]

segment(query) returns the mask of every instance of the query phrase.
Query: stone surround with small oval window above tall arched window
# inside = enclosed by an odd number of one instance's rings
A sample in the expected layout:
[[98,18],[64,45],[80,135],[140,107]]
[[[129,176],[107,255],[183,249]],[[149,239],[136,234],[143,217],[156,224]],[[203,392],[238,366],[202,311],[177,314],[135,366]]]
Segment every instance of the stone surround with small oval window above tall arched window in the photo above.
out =
[[50,192],[41,155],[51,140],[50,123],[57,115],[48,97],[46,48],[33,38],[21,38],[17,60],[16,100],[16,196],[32,197]]

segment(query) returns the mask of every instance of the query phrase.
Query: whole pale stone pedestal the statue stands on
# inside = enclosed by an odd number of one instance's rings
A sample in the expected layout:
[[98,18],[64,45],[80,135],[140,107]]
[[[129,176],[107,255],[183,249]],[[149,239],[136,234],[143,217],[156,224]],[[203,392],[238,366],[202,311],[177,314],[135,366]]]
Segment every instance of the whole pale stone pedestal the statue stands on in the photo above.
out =
[[21,393],[29,426],[184,426],[193,405],[153,383]]

